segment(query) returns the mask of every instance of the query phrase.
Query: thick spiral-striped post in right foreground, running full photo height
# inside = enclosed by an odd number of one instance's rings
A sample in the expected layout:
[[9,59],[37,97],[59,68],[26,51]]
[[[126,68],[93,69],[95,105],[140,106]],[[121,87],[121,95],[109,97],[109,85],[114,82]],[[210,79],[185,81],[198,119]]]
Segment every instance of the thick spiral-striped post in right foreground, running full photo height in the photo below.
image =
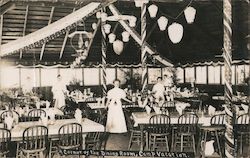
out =
[[235,110],[232,105],[232,3],[231,0],[223,0],[223,58],[225,63],[224,97],[226,103],[226,132],[225,154],[228,158],[237,157],[234,129]]

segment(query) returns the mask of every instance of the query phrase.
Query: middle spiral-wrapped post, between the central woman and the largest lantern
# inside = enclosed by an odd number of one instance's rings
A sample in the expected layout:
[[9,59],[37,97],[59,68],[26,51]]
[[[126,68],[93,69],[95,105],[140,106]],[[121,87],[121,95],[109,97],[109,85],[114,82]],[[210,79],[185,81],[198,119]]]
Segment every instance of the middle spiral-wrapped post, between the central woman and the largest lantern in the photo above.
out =
[[146,91],[148,84],[147,73],[147,52],[146,52],[146,35],[147,35],[147,21],[146,21],[146,3],[141,7],[141,62],[142,62],[142,92]]

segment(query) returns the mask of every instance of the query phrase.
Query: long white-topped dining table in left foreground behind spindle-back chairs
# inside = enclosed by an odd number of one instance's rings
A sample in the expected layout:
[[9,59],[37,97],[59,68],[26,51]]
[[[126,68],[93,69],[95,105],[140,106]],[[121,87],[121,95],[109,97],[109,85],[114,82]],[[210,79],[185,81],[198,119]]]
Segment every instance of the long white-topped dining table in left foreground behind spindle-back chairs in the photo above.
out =
[[[83,149],[85,148],[85,137],[90,132],[104,132],[105,127],[102,124],[96,123],[90,119],[82,118],[81,122],[78,122],[75,118],[73,119],[62,119],[62,120],[54,120],[48,121],[48,124],[45,125],[48,128],[48,138],[56,140],[59,138],[58,131],[59,128],[68,123],[80,123],[82,125],[82,136],[83,136]],[[44,125],[41,121],[32,121],[32,122],[19,122],[16,124],[11,131],[11,141],[22,141],[23,132],[26,128],[34,126],[34,125]],[[0,123],[0,128],[3,128],[4,124]],[[0,139],[1,139],[0,135]]]

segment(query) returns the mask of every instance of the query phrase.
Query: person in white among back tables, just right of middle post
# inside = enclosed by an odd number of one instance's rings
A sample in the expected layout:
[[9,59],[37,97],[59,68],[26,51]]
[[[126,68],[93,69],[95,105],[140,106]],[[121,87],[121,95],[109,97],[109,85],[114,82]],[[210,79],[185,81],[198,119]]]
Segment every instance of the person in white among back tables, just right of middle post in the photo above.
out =
[[158,77],[157,78],[157,83],[153,86],[152,92],[154,94],[155,97],[155,102],[159,103],[164,102],[165,101],[165,87],[162,83],[162,78]]

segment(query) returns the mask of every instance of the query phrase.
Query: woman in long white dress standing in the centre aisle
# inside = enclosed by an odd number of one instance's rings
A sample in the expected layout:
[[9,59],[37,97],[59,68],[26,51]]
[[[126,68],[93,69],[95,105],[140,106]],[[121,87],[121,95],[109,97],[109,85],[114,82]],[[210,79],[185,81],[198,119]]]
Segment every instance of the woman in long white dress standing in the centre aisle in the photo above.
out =
[[107,106],[108,116],[106,123],[106,131],[109,133],[125,133],[127,132],[126,120],[122,111],[121,99],[131,102],[126,98],[126,93],[119,88],[120,80],[114,80],[114,88],[108,91]]

